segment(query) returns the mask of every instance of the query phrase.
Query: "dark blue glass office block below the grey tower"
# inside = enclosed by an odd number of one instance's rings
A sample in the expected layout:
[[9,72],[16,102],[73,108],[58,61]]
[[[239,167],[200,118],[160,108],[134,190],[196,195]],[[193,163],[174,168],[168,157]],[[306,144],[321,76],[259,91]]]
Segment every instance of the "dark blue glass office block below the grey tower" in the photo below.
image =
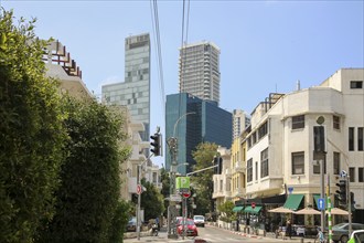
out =
[[[165,140],[178,139],[178,171],[191,171],[195,165],[192,151],[203,141],[215,142],[222,147],[232,146],[232,114],[220,108],[216,103],[203,101],[188,93],[167,96]],[[165,168],[170,169],[171,155],[165,145]],[[189,166],[182,166],[188,162]]]

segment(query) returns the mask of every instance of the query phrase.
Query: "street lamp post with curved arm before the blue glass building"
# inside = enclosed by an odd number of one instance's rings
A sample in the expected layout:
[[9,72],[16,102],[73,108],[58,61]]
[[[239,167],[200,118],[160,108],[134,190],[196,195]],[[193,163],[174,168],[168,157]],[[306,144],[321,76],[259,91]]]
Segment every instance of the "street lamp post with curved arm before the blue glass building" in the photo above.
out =
[[[174,219],[174,208],[175,208],[175,202],[174,201],[171,201],[171,198],[172,196],[175,194],[175,172],[176,172],[176,169],[179,166],[184,166],[184,165],[188,165],[186,162],[184,163],[178,163],[176,161],[176,154],[178,154],[178,139],[175,137],[175,129],[176,129],[176,126],[178,124],[180,123],[180,120],[188,116],[188,115],[192,115],[192,114],[196,114],[195,112],[191,112],[191,113],[185,113],[183,114],[182,116],[180,116],[175,123],[174,123],[174,126],[173,126],[173,137],[169,138],[168,139],[168,145],[169,145],[169,148],[170,148],[170,154],[171,154],[171,167],[170,167],[170,205],[168,207],[168,237],[173,237],[175,239],[176,237],[176,234],[175,232],[173,231],[173,233],[171,232],[171,228],[174,228],[174,223],[172,223],[172,219]],[[173,208],[173,210],[172,210]]]

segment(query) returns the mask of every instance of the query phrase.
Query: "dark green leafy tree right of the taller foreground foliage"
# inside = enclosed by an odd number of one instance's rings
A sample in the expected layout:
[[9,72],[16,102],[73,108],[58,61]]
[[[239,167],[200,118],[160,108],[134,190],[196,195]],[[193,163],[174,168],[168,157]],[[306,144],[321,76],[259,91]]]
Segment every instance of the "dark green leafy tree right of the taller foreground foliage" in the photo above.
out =
[[96,101],[66,97],[65,127],[71,137],[56,192],[56,214],[42,235],[43,242],[108,242],[118,210],[120,149],[125,139],[122,117]]

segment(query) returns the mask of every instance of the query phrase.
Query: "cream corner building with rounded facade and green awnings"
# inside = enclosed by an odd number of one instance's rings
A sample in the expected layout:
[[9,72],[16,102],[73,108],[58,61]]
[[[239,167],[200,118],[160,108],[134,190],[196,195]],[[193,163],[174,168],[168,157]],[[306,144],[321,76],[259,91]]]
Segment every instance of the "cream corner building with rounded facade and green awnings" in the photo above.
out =
[[[313,160],[313,127],[319,126],[317,118],[323,116],[324,168],[325,176],[330,175],[331,200],[335,203],[335,183],[340,180],[340,172],[345,170],[354,192],[354,222],[363,222],[363,68],[342,68],[318,86],[286,95],[270,94],[257,105],[251,113],[250,130],[246,130],[246,137],[242,135],[240,146],[234,140],[232,147],[232,196],[236,204],[248,208],[255,202],[257,214],[260,210],[266,214],[266,210],[283,204],[317,209],[321,177],[320,165]],[[239,161],[245,167],[242,173],[246,178],[244,197],[238,193],[238,182],[235,181]],[[237,196],[240,200],[236,200]],[[231,198],[229,193],[226,198]]]

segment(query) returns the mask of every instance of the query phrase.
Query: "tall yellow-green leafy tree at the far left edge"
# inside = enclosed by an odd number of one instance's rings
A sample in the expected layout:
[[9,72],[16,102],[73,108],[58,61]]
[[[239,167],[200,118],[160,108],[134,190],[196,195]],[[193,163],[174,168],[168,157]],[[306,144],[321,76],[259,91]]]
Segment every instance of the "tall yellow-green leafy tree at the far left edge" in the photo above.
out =
[[45,77],[47,41],[34,20],[0,10],[0,242],[33,242],[54,213],[66,140],[58,83]]

